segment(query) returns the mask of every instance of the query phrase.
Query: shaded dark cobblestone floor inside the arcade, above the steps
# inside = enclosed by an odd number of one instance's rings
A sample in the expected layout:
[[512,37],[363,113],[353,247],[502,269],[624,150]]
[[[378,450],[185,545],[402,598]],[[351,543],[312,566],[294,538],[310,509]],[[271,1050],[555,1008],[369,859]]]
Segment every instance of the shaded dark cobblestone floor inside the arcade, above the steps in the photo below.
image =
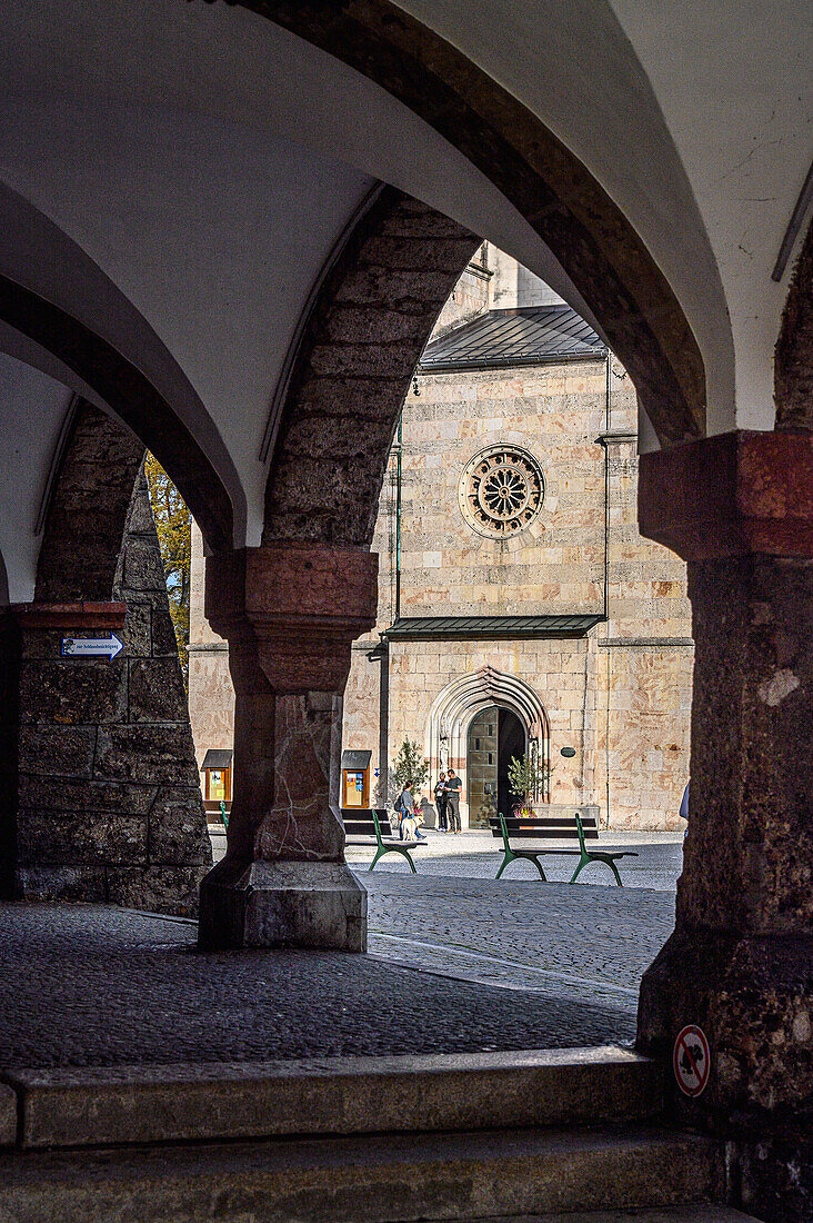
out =
[[200,954],[191,922],[0,905],[0,1070],[630,1041],[627,1011],[323,951]]

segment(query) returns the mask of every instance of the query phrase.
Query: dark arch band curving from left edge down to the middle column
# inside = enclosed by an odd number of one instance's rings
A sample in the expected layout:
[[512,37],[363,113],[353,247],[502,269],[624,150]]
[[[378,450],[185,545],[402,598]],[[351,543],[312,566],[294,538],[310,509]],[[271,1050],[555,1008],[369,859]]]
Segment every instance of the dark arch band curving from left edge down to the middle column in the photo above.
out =
[[0,344],[110,407],[170,473],[209,547],[230,549],[245,525],[242,488],[164,342],[82,247],[5,182],[0,223]]

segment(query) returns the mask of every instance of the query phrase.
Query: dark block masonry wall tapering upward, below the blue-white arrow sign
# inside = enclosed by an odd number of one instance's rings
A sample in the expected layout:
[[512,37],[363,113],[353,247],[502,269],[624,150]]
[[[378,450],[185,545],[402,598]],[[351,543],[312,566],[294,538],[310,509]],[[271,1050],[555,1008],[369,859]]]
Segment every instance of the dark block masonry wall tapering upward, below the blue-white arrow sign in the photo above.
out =
[[111,662],[23,630],[16,890],[193,915],[212,848],[143,477],[112,598],[127,614]]

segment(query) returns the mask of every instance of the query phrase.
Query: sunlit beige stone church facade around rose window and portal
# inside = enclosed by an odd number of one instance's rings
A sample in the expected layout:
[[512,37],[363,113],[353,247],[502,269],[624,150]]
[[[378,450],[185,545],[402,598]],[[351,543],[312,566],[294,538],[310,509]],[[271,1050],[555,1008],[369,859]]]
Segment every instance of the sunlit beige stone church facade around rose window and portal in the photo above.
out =
[[[421,374],[419,394],[407,396],[401,616],[601,614],[606,515],[609,620],[582,640],[392,642],[386,757],[391,763],[405,737],[429,752],[441,691],[491,667],[523,679],[545,707],[551,805],[595,805],[606,823],[609,778],[611,827],[677,827],[692,667],[685,566],[638,534],[635,390],[614,362],[608,427],[606,383],[605,362],[589,360]],[[498,442],[531,450],[545,476],[539,519],[509,541],[477,534],[457,499],[468,460]],[[345,698],[345,745],[372,750],[374,762],[385,664],[380,653],[367,656],[395,619],[395,471],[392,457],[374,541],[379,623],[353,653]],[[458,729],[457,747],[444,761],[461,774],[463,799],[466,730]],[[564,746],[576,756],[564,758]],[[435,757],[432,764],[434,777]],[[466,823],[466,801],[461,813]]]

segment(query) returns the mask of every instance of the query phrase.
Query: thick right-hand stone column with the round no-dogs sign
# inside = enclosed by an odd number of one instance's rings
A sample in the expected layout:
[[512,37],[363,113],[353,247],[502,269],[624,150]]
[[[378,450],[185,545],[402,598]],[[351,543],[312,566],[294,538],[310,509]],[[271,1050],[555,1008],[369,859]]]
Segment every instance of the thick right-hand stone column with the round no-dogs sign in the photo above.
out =
[[[638,1047],[724,1136],[732,1203],[813,1217],[813,439],[736,433],[644,455],[643,534],[688,561],[696,641],[677,920],[643,978]],[[675,1084],[699,1025],[710,1077]],[[806,1141],[807,1140],[807,1141]]]

